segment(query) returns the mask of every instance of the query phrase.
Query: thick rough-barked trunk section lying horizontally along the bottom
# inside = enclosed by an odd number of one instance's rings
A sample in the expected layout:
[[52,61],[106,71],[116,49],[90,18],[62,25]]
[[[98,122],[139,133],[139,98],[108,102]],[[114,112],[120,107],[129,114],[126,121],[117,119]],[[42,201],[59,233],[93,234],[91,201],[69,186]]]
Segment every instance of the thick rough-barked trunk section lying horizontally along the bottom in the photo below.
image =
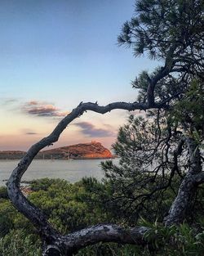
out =
[[118,244],[146,245],[144,234],[147,227],[124,228],[113,224],[100,224],[87,227],[67,236],[56,236],[51,245],[44,244],[43,256],[70,256],[79,249],[98,242],[117,242]]

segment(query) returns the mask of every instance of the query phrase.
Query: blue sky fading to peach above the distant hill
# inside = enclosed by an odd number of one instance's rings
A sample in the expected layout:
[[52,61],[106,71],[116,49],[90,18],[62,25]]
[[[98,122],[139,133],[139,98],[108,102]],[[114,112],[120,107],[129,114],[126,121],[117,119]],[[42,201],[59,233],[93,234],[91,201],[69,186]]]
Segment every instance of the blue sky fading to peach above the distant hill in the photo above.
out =
[[[131,81],[153,61],[118,47],[134,0],[1,0],[0,150],[28,150],[83,101],[135,101]],[[88,112],[53,147],[108,148],[129,113]]]

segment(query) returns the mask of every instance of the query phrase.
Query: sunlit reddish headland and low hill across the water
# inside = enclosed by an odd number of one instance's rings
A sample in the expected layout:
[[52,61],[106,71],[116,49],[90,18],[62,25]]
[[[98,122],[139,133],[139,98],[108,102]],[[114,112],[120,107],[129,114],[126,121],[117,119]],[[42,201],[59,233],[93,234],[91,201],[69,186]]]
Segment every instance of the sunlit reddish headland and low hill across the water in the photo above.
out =
[[[24,151],[0,151],[0,159],[21,159]],[[100,142],[80,143],[71,146],[62,146],[51,150],[43,150],[35,159],[107,159],[113,158],[111,152]]]

